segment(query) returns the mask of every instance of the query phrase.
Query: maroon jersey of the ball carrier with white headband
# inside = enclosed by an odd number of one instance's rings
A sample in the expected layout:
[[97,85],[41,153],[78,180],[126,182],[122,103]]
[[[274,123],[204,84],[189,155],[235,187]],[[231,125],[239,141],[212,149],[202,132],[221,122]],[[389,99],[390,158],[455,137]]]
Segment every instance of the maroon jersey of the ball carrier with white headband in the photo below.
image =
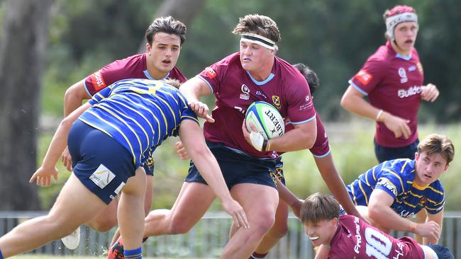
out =
[[242,123],[251,103],[270,103],[293,124],[309,122],[316,116],[306,79],[279,57],[275,57],[272,72],[264,81],[256,81],[242,68],[239,52],[207,67],[199,77],[216,96],[216,121],[204,125],[205,138],[210,142],[221,142],[256,157],[274,157],[274,152],[257,151],[243,137]]

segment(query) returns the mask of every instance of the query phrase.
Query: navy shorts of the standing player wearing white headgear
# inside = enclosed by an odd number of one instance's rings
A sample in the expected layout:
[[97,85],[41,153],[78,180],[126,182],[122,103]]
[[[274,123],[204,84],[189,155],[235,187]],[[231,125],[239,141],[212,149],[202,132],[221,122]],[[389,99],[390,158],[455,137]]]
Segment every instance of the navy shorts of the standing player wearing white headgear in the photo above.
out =
[[385,147],[380,146],[374,141],[374,154],[379,163],[393,159],[415,159],[415,153],[418,151],[419,139],[409,144],[408,146],[401,147]]

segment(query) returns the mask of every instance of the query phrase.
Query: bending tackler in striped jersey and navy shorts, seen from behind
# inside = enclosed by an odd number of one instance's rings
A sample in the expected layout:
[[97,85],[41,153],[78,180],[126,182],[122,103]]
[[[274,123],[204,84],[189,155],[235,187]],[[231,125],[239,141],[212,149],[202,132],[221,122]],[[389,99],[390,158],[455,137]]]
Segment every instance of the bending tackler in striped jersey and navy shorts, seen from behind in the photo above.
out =
[[0,258],[30,251],[66,236],[121,194],[118,225],[126,258],[141,258],[145,173],[137,171],[157,146],[177,136],[235,224],[248,229],[243,208],[230,197],[206,146],[196,115],[182,93],[162,81],[128,79],[97,93],[62,120],[43,165],[30,183],[50,186],[56,163],[69,147],[73,173],[49,214],[30,219],[0,238]]

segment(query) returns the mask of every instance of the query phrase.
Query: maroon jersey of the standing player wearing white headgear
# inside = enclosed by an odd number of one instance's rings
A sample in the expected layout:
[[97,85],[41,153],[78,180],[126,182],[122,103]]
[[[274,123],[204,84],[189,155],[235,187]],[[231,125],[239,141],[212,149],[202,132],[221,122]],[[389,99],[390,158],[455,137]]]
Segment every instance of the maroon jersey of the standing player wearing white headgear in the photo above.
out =
[[409,57],[404,57],[392,49],[389,41],[385,46],[379,47],[367,59],[362,69],[350,79],[349,84],[368,96],[371,105],[410,120],[409,139],[396,139],[384,123],[378,122],[375,134],[377,144],[401,147],[416,141],[423,79],[423,67],[416,49],[413,48]]

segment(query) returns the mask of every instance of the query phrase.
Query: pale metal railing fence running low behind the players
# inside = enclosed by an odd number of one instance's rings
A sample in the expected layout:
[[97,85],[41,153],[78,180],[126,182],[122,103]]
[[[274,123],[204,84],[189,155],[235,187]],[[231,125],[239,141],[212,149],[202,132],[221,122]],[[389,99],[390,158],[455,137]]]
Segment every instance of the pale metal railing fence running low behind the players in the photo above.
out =
[[[45,212],[0,212],[0,236],[13,229],[24,220],[38,217]],[[267,256],[274,258],[314,258],[309,238],[298,219],[289,217],[289,231]],[[222,213],[207,213],[199,224],[187,234],[177,236],[150,237],[143,244],[143,254],[148,258],[218,258],[228,241],[230,217]],[[75,250],[69,250],[61,241],[53,241],[30,253],[45,255],[103,255],[109,246],[115,229],[99,233],[82,226],[81,243]],[[409,235],[393,233],[400,237]],[[461,212],[445,212],[443,234],[440,243],[448,246],[455,258],[461,258]]]

